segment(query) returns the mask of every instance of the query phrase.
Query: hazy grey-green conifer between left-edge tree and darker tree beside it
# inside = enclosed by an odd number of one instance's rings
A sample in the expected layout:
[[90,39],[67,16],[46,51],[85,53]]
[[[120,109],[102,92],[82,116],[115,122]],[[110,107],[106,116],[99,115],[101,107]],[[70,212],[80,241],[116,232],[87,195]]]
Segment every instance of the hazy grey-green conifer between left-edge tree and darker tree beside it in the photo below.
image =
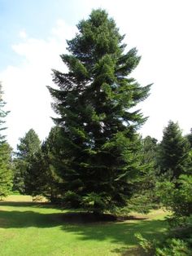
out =
[[28,191],[30,184],[30,165],[36,152],[40,150],[41,141],[33,129],[28,130],[20,144],[17,145],[15,158],[14,189],[21,193]]

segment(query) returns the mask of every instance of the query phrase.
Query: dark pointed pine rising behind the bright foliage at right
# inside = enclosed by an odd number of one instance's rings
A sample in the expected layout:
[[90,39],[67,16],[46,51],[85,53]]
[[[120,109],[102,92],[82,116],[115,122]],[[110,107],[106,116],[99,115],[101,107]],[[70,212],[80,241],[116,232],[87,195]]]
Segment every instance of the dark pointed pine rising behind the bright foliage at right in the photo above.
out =
[[168,122],[160,143],[159,166],[162,174],[171,174],[172,179],[178,179],[181,174],[190,173],[191,157],[190,143],[177,123]]

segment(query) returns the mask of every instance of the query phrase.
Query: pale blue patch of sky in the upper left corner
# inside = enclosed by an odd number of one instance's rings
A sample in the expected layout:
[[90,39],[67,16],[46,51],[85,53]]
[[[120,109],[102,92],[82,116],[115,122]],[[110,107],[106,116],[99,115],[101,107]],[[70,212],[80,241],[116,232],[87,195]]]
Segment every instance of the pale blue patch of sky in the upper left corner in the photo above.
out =
[[20,30],[34,38],[45,38],[56,20],[64,18],[66,23],[75,25],[78,6],[79,1],[73,0],[0,0],[0,68],[20,61],[11,51],[11,44],[20,42]]

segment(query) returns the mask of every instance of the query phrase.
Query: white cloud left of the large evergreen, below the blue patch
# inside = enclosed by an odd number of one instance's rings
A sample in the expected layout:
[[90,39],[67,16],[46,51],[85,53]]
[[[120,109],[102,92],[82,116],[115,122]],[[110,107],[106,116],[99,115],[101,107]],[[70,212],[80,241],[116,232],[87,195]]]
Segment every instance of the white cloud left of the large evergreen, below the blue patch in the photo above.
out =
[[0,73],[7,109],[7,139],[15,148],[18,138],[33,128],[41,139],[45,139],[53,126],[53,113],[50,93],[46,86],[52,86],[51,68],[65,69],[59,55],[65,51],[66,38],[72,38],[74,28],[59,20],[50,38],[28,38],[24,31],[23,39],[12,46],[13,51],[22,56],[22,63],[8,66]]

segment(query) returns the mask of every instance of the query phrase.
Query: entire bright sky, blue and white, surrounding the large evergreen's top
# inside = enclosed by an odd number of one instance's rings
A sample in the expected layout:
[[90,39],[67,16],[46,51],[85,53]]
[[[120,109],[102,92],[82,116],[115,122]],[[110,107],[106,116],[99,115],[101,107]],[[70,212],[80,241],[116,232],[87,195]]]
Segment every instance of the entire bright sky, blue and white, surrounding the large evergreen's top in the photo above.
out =
[[146,124],[139,132],[161,140],[168,121],[178,121],[183,134],[192,127],[191,0],[0,0],[0,81],[4,90],[7,141],[16,148],[33,128],[46,139],[54,123],[55,86],[51,69],[66,72],[59,55],[76,24],[96,8],[105,9],[126,34],[127,51],[142,56],[132,77],[151,95],[138,108]]

